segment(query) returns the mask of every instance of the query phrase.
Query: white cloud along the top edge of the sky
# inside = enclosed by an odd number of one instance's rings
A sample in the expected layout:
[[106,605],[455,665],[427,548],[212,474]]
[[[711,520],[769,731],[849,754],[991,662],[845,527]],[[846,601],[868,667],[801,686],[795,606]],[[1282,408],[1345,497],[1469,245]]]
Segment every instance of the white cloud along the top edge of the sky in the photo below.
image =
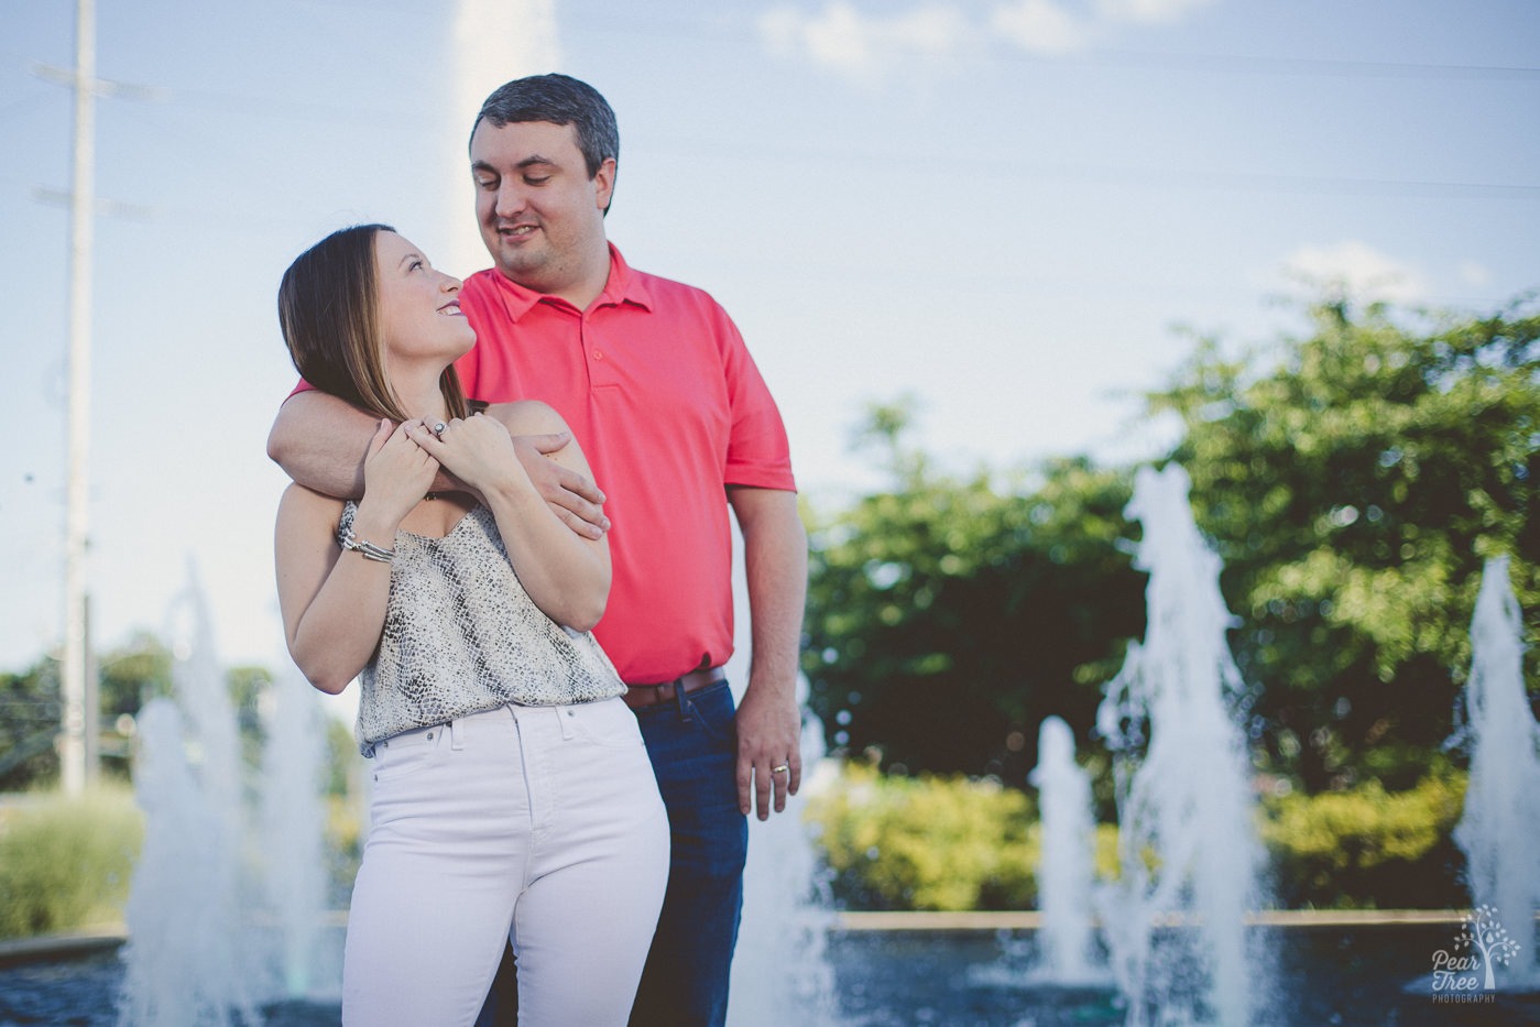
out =
[[852,0],[818,12],[782,3],[759,15],[775,52],[801,55],[856,80],[875,82],[916,59],[959,57],[979,42],[1038,55],[1084,51],[1130,25],[1169,25],[1218,0],[921,0],[907,11],[865,14]]

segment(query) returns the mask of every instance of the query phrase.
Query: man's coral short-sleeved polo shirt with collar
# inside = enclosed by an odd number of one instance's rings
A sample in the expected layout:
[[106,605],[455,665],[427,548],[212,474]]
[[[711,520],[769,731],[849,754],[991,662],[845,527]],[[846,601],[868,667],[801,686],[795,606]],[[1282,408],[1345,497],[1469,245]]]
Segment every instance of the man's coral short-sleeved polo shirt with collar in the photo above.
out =
[[627,684],[733,653],[727,485],[795,490],[781,414],[742,336],[704,291],[633,271],[610,246],[588,309],[496,269],[465,282],[465,394],[550,403],[605,493],[610,602],[594,628]]

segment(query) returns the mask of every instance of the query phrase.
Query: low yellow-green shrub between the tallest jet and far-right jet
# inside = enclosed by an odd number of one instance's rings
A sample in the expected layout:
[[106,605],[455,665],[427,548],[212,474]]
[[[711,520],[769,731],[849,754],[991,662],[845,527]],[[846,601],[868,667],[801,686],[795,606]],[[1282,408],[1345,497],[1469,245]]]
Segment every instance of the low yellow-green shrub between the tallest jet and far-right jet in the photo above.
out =
[[1465,773],[1446,764],[1414,788],[1369,781],[1263,802],[1261,836],[1287,908],[1457,908],[1469,904],[1452,841]]

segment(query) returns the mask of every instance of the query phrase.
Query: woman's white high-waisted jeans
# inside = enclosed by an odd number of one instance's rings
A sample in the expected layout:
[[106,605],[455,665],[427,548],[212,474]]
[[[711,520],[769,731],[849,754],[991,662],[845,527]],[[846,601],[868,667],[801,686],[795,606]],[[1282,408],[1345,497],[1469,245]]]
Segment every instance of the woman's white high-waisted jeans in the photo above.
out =
[[473,1024],[505,938],[521,1024],[624,1024],[668,879],[625,704],[504,707],[397,734],[371,762],[343,1024]]

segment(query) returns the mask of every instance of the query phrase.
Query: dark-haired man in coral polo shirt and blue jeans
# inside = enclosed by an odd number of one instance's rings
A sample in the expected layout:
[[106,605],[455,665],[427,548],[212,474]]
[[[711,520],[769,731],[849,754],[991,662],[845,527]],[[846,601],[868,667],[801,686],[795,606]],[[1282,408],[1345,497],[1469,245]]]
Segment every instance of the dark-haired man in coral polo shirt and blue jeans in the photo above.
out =
[[[470,157],[496,266],[462,289],[477,345],[457,370],[474,399],[554,406],[605,490],[614,584],[596,633],[630,687],[673,831],[631,1022],[721,1024],[745,816],[782,810],[801,782],[807,539],[779,413],[732,320],[705,293],[633,271],[605,239],[618,156],[614,114],[582,82],[536,75],[487,99]],[[296,480],[342,494],[357,488],[371,434],[340,400],[297,393],[268,451]],[[593,531],[598,494],[541,468],[551,462],[530,440],[519,451],[547,499]],[[728,505],[753,621],[736,713],[719,670],[732,651]]]

